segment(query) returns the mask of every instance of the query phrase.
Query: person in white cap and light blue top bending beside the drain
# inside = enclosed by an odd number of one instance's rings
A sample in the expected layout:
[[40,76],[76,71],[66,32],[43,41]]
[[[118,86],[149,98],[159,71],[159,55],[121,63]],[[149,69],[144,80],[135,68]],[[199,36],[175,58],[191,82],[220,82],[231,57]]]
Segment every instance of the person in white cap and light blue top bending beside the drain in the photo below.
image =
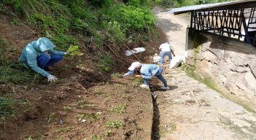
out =
[[140,85],[141,88],[150,88],[148,79],[151,79],[152,76],[158,77],[160,81],[163,82],[163,87],[161,89],[168,90],[168,85],[166,82],[166,79],[163,78],[162,72],[163,69],[160,68],[160,66],[155,64],[141,64],[139,62],[133,62],[131,63],[131,66],[128,68],[130,71],[128,71],[126,74],[124,74],[122,77],[127,77],[131,74],[133,74],[135,71],[139,71],[141,75],[135,75],[135,77],[141,77],[144,81],[143,85]]

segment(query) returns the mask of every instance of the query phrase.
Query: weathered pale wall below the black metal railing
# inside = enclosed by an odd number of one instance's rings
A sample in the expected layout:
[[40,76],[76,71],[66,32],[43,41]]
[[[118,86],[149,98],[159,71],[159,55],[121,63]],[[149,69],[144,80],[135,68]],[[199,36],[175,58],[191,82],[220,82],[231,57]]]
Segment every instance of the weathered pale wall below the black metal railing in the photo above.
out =
[[187,63],[195,66],[195,74],[256,111],[256,48],[236,39],[187,31]]

